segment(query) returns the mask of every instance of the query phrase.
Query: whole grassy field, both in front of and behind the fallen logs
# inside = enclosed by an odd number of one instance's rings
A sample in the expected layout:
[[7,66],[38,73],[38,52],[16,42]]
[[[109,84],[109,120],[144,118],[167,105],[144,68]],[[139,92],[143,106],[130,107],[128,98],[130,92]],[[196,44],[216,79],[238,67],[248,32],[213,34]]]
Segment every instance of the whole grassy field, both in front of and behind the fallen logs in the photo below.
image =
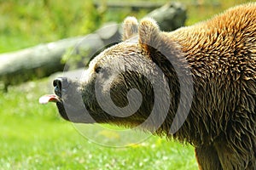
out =
[[[108,11],[95,12],[91,1],[81,2],[0,1],[0,53],[83,35],[111,20]],[[210,0],[204,6],[182,2],[188,7],[186,25],[191,25],[247,1],[227,0],[217,7],[209,5]],[[115,18],[120,22],[131,14],[125,10]],[[0,169],[197,169],[190,145],[154,136],[123,148],[90,141],[58,116],[54,104],[38,104],[38,98],[51,91],[45,78],[10,87],[7,94],[0,92]],[[88,131],[94,132],[94,128]],[[111,135],[100,134],[107,142],[112,140]]]

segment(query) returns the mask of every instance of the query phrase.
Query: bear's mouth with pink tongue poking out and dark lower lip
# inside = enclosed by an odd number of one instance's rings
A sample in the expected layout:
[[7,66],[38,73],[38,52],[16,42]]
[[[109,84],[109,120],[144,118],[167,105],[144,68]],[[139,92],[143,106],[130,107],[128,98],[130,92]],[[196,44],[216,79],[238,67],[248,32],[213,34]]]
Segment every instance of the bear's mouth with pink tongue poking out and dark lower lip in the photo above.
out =
[[39,103],[42,105],[46,105],[49,102],[55,103],[57,105],[57,108],[58,108],[58,111],[59,111],[61,117],[67,121],[70,121],[67,116],[67,112],[64,108],[63,101],[62,101],[61,97],[59,97],[56,94],[45,94],[44,96],[39,98]]

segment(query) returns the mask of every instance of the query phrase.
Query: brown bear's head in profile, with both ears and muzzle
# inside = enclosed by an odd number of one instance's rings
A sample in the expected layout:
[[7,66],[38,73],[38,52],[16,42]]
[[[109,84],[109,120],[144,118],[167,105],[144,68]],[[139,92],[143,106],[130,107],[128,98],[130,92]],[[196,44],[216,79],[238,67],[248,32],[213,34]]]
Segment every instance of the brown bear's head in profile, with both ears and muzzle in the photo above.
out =
[[152,19],[126,18],[122,39],[92,59],[79,81],[55,79],[49,101],[71,122],[162,131],[178,109],[184,55]]

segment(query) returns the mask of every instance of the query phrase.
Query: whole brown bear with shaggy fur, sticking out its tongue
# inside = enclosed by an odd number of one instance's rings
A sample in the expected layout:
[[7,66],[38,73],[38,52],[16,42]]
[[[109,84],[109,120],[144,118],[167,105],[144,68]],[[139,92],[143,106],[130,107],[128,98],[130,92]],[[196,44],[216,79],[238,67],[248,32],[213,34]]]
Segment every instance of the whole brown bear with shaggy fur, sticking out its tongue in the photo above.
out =
[[200,169],[256,169],[256,3],[172,32],[128,17],[123,30],[80,81],[55,79],[41,103],[71,122],[192,144]]

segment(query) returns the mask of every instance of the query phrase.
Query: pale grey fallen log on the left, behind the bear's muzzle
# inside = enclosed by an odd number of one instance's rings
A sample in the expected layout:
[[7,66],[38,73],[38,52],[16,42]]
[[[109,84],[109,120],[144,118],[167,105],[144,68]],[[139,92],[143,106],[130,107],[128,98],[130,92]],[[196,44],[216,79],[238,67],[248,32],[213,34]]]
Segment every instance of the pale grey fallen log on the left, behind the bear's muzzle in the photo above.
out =
[[7,91],[9,85],[26,82],[33,78],[47,77],[53,72],[63,71],[62,55],[67,52],[68,48],[73,48],[77,44],[79,44],[77,48],[81,51],[86,50],[88,56],[103,47],[100,37],[92,34],[49,42],[15,53],[0,54],[1,87]]

